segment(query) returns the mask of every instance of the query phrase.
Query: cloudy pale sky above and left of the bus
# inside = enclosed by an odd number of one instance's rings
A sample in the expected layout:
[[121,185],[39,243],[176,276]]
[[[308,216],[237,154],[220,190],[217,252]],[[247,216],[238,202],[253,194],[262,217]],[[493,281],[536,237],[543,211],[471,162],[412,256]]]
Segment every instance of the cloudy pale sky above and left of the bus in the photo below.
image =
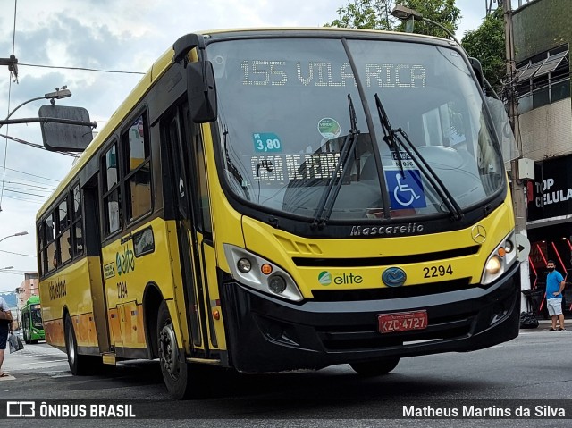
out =
[[[348,0],[0,0],[0,4],[0,57],[14,54],[20,63],[17,83],[7,67],[0,66],[0,117],[30,98],[67,85],[73,96],[58,104],[85,107],[91,119],[103,125],[139,81],[138,73],[147,71],[181,35],[200,29],[322,26],[338,18],[337,9]],[[463,16],[458,38],[478,27],[485,4],[457,0]],[[13,118],[37,117],[42,104],[24,105]],[[4,125],[0,134],[41,144],[37,123]],[[71,162],[70,156],[0,138],[0,239],[29,232],[0,240],[0,291],[13,291],[23,281],[23,272],[37,270],[36,213]],[[12,272],[3,273],[9,266]]]

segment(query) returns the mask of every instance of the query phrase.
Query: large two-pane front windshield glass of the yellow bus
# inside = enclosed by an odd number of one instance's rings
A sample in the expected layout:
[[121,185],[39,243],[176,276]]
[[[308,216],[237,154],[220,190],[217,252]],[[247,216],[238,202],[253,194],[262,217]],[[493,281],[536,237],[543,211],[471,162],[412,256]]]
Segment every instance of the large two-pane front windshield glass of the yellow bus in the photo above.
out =
[[[207,47],[219,97],[224,177],[236,196],[260,210],[309,218],[321,215],[329,197],[329,219],[356,221],[450,214],[431,174],[461,209],[501,189],[501,155],[482,97],[456,50],[356,39],[348,47],[351,60],[341,40],[332,38]],[[430,172],[404,147],[383,139],[376,95],[391,127],[407,134]],[[344,147],[351,147],[347,159]]]

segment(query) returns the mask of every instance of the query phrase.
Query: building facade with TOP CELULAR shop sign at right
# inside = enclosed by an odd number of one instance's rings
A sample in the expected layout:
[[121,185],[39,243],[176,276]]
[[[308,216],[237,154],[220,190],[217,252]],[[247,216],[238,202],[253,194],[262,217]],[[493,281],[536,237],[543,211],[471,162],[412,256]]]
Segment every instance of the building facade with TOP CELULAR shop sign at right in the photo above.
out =
[[[572,2],[529,0],[513,12],[517,97],[523,157],[534,160],[526,182],[531,285],[543,290],[546,261],[572,281]],[[543,302],[544,303],[544,302]],[[572,315],[572,286],[564,293]],[[541,312],[546,315],[545,305]]]

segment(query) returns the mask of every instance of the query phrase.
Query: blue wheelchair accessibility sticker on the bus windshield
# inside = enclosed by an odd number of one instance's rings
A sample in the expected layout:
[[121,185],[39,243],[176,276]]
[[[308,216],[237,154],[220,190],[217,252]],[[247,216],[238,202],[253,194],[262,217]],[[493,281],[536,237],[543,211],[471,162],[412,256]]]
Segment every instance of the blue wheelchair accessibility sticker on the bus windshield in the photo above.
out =
[[419,170],[385,171],[391,208],[425,208],[425,193]]

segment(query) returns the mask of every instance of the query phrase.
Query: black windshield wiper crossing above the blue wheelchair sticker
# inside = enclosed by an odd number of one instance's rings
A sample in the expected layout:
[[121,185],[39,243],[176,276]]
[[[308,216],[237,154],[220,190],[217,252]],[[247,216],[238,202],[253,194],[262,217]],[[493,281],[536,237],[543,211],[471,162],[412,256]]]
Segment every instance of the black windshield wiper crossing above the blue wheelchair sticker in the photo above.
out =
[[[385,109],[383,108],[382,100],[377,94],[375,94],[375,105],[377,106],[377,113],[379,115],[379,120],[382,123],[383,133],[385,134],[383,139],[386,141],[386,143],[396,151],[399,150],[400,147],[403,147],[409,157],[415,161],[421,172],[423,172],[427,181],[429,181],[431,186],[433,186],[433,189],[435,189],[439,197],[441,197],[443,204],[447,206],[447,209],[449,210],[453,220],[460,220],[463,218],[461,207],[458,205],[455,198],[451,195],[449,189],[447,189],[445,184],[439,178],[435,170],[433,170],[433,167],[428,164],[427,161],[425,161],[425,158],[419,153],[417,147],[415,147],[415,145],[408,138],[408,134],[401,128],[397,128],[395,130],[391,129],[391,124],[387,117],[387,113],[385,113]],[[405,143],[407,144],[404,143],[400,136],[405,139]],[[413,153],[415,153],[415,155],[413,155]],[[399,151],[397,151],[395,155],[399,159],[401,172],[404,172]]]

